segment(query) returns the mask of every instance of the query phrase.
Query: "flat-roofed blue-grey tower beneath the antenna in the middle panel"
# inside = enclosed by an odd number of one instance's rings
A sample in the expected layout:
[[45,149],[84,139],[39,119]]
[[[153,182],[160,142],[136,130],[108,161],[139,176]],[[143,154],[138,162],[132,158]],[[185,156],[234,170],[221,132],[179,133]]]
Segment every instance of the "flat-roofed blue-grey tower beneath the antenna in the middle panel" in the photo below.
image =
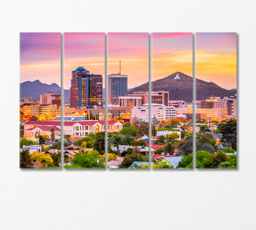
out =
[[108,75],[108,103],[119,105],[118,97],[127,96],[128,75],[110,74]]

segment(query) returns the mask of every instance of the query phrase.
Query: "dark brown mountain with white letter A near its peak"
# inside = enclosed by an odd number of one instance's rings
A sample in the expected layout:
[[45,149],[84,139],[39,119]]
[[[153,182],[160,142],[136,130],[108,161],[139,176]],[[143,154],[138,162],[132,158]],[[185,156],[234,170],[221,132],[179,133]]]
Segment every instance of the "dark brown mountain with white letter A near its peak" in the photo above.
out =
[[[178,74],[178,77],[176,77]],[[152,91],[169,91],[169,100],[192,101],[193,98],[193,78],[184,73],[176,72],[167,77],[152,82]],[[146,84],[129,90],[128,93],[135,91],[148,91],[148,82]],[[202,100],[212,96],[230,97],[236,91],[226,90],[214,82],[206,82],[196,79],[196,100]]]

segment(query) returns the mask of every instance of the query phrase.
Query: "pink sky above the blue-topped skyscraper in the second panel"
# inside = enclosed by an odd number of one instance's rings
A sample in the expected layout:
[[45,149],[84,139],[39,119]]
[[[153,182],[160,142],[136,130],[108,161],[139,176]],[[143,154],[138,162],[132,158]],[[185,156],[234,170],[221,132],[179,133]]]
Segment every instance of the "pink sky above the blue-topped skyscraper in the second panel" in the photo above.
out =
[[79,66],[105,77],[105,33],[64,33],[64,89]]

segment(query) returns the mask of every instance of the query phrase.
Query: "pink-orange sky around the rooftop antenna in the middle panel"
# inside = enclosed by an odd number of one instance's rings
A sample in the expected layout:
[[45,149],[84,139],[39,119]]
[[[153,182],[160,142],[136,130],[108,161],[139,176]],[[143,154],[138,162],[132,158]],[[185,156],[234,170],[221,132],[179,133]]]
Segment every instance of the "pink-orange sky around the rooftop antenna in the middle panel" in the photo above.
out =
[[128,75],[128,89],[148,82],[148,33],[108,33],[108,74]]

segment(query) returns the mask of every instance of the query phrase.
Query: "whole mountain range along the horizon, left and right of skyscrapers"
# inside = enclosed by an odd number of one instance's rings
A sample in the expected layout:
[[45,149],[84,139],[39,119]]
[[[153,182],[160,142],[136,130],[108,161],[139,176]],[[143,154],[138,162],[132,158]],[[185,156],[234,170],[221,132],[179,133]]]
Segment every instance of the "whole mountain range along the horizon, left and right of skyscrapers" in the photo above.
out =
[[[177,77],[178,75],[178,77]],[[164,90],[169,92],[169,100],[192,101],[193,98],[193,78],[181,72],[170,74],[167,77],[152,81],[152,91]],[[135,91],[148,92],[148,82],[133,89],[128,89],[128,93]],[[20,83],[20,97],[32,97],[39,100],[40,95],[46,92],[54,92],[60,95],[60,86],[57,84],[44,84],[39,80],[26,81]],[[196,79],[196,100],[209,97],[230,97],[236,94],[236,89],[227,90],[214,82],[206,82]],[[103,89],[105,95],[105,89]],[[70,90],[64,89],[64,98],[70,98]]]

